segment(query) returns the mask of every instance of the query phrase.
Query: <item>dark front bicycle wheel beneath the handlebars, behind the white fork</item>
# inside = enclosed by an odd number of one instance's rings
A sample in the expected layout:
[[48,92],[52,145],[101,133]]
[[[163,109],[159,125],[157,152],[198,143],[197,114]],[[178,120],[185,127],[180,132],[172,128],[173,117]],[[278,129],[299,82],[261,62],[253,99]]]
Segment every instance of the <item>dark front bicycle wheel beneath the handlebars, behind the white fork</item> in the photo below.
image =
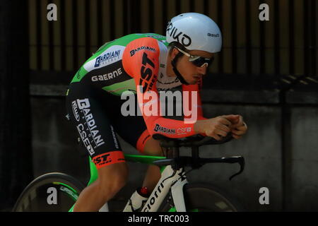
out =
[[[184,185],[184,201],[187,212],[240,212],[244,211],[235,198],[210,184]],[[175,212],[171,195],[168,195],[160,212]]]

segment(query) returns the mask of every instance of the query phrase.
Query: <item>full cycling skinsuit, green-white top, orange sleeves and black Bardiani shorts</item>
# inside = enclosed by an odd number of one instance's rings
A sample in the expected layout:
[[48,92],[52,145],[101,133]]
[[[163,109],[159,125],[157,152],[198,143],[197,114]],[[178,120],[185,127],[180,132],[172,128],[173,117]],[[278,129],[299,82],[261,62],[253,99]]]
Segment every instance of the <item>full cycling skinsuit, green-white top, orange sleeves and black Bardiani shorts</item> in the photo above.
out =
[[[77,71],[69,86],[66,106],[90,155],[96,158],[95,150],[105,145],[108,150],[100,150],[99,154],[102,153],[100,155],[104,155],[105,151],[120,151],[114,131],[121,131],[119,135],[124,136],[125,140],[131,140],[129,143],[139,150],[154,133],[161,133],[171,138],[195,134],[194,123],[164,118],[161,114],[160,101],[147,100],[145,97],[148,91],[159,97],[158,91],[182,87],[183,91],[190,93],[188,101],[192,106],[191,93],[199,91],[201,81],[196,85],[183,85],[177,77],[167,76],[167,54],[167,42],[164,36],[153,33],[131,34],[105,43]],[[120,109],[124,101],[120,97],[125,91],[136,95],[137,108],[158,104],[156,114],[149,115],[141,111],[142,122],[141,117],[122,116]],[[197,108],[197,118],[204,119],[199,92],[196,102],[197,105],[193,105],[192,110]],[[135,121],[136,126],[134,128],[129,126],[131,124],[127,119]],[[117,124],[122,124],[120,121],[125,121],[126,126],[122,125],[123,127],[119,128]],[[79,124],[83,126],[78,128]],[[105,128],[108,128],[107,132]],[[129,133],[129,130],[134,131],[134,129],[138,132]],[[83,131],[89,131],[90,136],[87,134],[83,136]],[[113,140],[112,145],[105,141],[110,138]],[[98,155],[99,160],[102,159],[100,155]],[[123,156],[116,156],[113,159],[120,161],[123,160]]]

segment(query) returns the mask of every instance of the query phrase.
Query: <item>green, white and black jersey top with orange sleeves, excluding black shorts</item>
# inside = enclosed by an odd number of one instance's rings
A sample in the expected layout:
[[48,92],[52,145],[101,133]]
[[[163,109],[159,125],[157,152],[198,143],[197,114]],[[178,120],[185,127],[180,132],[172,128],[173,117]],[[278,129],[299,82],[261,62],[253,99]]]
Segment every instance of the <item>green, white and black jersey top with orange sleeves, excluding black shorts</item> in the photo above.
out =
[[[175,88],[182,83],[176,77],[167,76],[165,72],[166,44],[165,37],[156,34],[133,34],[108,42],[83,64],[72,83],[90,83],[114,95],[121,95],[126,90],[136,92],[136,85],[143,86],[143,93],[148,90],[158,93],[158,90]],[[182,85],[182,89],[197,91],[198,85]],[[198,105],[201,105],[199,102]],[[194,135],[193,124],[163,119],[160,112],[158,116],[143,117],[151,134],[158,132],[173,138]],[[155,131],[156,124],[172,132]],[[187,128],[186,133],[179,134],[178,129],[184,128]]]

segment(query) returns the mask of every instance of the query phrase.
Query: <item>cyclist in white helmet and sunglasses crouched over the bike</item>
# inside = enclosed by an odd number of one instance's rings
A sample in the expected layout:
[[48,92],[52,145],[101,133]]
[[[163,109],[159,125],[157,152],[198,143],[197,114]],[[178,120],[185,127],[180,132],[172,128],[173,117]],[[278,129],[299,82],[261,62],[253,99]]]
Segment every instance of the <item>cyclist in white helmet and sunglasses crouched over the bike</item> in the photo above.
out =
[[[126,35],[104,44],[81,66],[69,85],[66,108],[98,168],[98,179],[81,192],[74,211],[98,211],[126,183],[128,169],[116,133],[144,155],[162,155],[158,141],[151,137],[153,133],[172,138],[201,133],[220,140],[229,132],[240,138],[247,131],[240,115],[202,116],[197,92],[221,45],[220,29],[211,18],[182,13],[167,24],[166,37],[153,33]],[[187,117],[164,118],[160,101],[146,98],[149,92],[158,94],[158,90],[176,87],[190,93],[189,102],[192,94],[197,94],[197,104],[190,104],[197,120],[186,123]],[[136,109],[150,105],[158,114],[141,111],[142,116],[124,116],[126,99],[121,96],[127,90],[138,100]],[[143,187],[151,192],[159,178],[159,168],[150,166]]]

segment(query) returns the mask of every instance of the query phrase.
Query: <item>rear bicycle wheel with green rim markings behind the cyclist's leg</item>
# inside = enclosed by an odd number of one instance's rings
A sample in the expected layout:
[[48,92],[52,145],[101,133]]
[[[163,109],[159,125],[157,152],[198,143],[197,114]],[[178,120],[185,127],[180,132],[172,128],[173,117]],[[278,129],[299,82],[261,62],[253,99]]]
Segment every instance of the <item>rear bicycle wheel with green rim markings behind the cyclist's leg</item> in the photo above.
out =
[[12,211],[67,212],[83,189],[81,182],[67,174],[44,174],[23,190]]

